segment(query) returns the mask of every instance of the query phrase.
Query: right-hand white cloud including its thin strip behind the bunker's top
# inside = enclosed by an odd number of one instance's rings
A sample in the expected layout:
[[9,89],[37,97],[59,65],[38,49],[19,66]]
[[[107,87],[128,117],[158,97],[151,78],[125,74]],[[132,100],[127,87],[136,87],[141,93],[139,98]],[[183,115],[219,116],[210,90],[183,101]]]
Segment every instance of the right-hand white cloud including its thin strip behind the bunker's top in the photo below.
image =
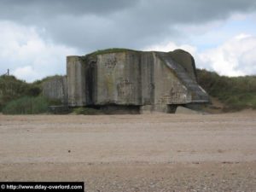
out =
[[216,48],[198,49],[189,44],[174,43],[157,44],[146,50],[171,51],[184,49],[195,57],[196,67],[207,68],[226,76],[241,76],[256,74],[256,37],[249,34],[239,34],[230,38]]

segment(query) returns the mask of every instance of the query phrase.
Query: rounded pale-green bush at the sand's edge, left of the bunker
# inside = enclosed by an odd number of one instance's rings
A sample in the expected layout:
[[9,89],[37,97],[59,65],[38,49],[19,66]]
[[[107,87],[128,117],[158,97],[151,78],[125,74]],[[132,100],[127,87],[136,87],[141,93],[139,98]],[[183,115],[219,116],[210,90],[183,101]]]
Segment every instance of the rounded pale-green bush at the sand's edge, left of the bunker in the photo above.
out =
[[48,113],[47,100],[44,97],[22,97],[9,102],[4,108],[4,114],[38,114]]

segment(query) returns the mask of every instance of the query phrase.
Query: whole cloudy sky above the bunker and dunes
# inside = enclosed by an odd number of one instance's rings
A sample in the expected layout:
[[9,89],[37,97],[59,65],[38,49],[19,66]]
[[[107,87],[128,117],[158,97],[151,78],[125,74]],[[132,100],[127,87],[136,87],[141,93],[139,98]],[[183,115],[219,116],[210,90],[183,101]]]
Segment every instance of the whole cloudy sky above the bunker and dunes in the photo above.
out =
[[0,74],[66,74],[67,55],[185,49],[196,67],[256,74],[255,0],[0,0]]

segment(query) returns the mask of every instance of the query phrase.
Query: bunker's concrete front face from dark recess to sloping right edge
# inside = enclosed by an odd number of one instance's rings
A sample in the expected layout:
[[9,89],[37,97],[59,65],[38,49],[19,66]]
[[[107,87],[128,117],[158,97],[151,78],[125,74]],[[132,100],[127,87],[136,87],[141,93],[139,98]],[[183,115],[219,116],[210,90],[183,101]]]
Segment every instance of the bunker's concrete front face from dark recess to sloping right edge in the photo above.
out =
[[169,110],[170,104],[192,102],[191,92],[154,52],[97,55],[95,105],[140,105],[143,110]]

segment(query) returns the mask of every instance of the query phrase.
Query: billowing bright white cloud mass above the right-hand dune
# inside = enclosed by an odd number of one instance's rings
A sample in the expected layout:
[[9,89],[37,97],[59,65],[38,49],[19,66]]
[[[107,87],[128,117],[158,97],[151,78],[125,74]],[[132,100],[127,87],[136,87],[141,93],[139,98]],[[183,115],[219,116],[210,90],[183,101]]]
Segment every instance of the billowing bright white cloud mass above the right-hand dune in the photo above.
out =
[[204,62],[204,67],[210,65],[221,75],[240,76],[256,74],[255,52],[256,38],[240,34],[217,48],[208,49],[199,54],[199,59]]

